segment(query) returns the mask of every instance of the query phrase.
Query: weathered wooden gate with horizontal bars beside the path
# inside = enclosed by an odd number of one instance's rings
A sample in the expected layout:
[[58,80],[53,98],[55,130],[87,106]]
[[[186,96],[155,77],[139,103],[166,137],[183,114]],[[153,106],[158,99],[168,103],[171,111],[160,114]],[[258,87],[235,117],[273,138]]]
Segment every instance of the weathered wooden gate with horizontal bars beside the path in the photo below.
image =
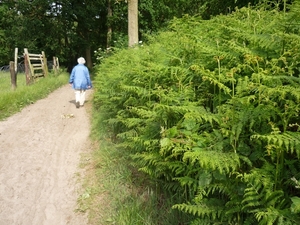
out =
[[48,76],[47,58],[45,53],[31,54],[28,49],[24,49],[24,64],[26,74],[26,84],[34,82],[36,78]]

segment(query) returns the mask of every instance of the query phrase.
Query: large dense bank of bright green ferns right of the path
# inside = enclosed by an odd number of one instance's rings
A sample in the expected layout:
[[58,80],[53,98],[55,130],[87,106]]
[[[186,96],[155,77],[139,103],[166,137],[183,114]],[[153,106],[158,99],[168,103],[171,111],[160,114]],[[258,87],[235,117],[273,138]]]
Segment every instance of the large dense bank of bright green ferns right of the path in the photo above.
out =
[[300,5],[284,6],[174,19],[98,67],[99,126],[192,224],[300,224]]

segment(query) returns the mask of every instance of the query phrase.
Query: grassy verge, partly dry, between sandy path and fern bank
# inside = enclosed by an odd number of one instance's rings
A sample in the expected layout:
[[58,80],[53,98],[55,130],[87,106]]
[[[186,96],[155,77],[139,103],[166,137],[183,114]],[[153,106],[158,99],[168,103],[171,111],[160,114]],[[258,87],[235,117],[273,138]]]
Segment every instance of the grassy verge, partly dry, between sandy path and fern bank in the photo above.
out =
[[[171,206],[175,199],[131,166],[130,154],[114,144],[99,113],[92,113],[93,151],[82,157],[88,171],[78,199],[78,211],[88,212],[91,225],[188,224]],[[156,183],[157,184],[157,183]]]

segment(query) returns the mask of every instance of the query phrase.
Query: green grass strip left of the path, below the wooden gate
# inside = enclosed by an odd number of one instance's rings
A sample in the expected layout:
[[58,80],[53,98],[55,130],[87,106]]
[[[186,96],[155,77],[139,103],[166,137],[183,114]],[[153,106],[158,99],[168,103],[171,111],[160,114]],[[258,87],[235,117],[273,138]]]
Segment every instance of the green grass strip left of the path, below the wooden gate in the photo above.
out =
[[19,74],[17,79],[17,89],[12,90],[10,76],[0,74],[0,120],[19,112],[25,106],[46,97],[58,87],[67,84],[69,75],[66,72],[59,75],[49,74],[48,77],[40,78],[28,86],[24,74]]

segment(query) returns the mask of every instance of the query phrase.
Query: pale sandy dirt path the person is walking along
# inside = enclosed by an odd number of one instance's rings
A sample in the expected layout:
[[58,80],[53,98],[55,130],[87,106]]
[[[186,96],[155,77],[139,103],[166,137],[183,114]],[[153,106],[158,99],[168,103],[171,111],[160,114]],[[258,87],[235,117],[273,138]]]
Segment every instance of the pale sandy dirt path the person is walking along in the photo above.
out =
[[75,210],[89,132],[68,85],[0,121],[1,225],[87,224]]

